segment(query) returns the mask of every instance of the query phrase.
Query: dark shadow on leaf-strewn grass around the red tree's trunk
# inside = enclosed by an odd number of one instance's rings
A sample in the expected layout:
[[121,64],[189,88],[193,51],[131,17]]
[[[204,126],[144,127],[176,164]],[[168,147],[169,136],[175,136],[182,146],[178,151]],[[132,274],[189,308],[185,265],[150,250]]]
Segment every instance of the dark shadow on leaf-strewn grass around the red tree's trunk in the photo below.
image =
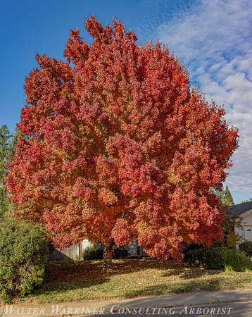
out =
[[102,261],[68,261],[52,263],[46,275],[44,286],[54,284],[90,285],[107,282],[113,275],[124,275],[139,271],[158,269],[162,277],[179,276],[179,278],[200,278],[203,275],[215,275],[220,271],[205,270],[187,266],[185,263],[173,263],[158,260],[124,259],[113,261],[113,271],[103,271]]

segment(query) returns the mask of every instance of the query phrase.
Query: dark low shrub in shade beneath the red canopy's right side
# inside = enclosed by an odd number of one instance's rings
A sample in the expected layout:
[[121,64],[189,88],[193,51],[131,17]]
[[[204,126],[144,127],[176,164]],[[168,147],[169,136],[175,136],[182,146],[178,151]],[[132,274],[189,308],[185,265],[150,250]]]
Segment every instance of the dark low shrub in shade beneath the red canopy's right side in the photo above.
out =
[[184,255],[184,261],[189,264],[195,264],[199,268],[219,270],[222,268],[220,254],[222,254],[223,250],[223,248],[201,248],[191,250]]

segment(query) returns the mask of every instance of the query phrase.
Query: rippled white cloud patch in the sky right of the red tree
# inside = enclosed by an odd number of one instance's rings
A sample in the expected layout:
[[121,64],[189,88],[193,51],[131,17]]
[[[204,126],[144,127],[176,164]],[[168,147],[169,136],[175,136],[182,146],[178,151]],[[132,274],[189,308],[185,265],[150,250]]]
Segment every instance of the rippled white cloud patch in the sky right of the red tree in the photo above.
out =
[[184,61],[192,84],[206,99],[224,104],[229,125],[239,128],[239,149],[226,184],[252,192],[252,3],[202,0],[183,18],[162,23],[157,37]]

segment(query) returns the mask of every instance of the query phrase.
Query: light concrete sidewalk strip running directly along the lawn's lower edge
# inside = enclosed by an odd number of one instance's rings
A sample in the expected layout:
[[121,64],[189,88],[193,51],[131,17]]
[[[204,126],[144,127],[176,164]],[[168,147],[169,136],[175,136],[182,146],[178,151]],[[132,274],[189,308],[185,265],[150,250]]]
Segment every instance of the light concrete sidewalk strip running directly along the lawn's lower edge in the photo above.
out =
[[[124,314],[130,309],[151,309],[213,304],[225,302],[252,301],[252,290],[230,290],[222,292],[184,293],[155,297],[138,297],[134,299],[111,299],[104,301],[69,302],[42,305],[6,305],[0,307],[0,316],[49,317],[49,316],[83,316],[102,315],[111,312],[111,316]],[[132,311],[134,314],[134,311]]]

